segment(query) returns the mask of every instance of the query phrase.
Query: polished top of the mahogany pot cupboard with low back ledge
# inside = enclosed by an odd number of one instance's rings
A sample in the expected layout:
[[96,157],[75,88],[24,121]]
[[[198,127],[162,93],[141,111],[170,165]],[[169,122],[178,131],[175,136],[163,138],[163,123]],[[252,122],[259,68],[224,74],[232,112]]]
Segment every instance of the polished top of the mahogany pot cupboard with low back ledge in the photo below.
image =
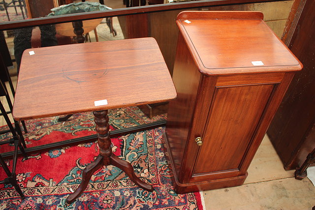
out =
[[203,19],[199,19],[193,12],[185,13],[188,15],[178,16],[177,25],[201,73],[216,75],[302,69],[300,61],[257,17],[242,19],[236,16],[234,19],[233,12],[226,12],[229,15],[221,19],[220,15],[203,15],[212,12],[194,12],[201,14],[199,17]]

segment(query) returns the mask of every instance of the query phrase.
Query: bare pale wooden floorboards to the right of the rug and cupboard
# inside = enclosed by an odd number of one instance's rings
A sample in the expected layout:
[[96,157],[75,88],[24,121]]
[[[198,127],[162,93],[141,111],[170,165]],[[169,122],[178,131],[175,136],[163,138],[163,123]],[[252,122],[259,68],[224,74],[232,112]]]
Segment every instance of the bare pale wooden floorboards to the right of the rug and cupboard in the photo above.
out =
[[204,191],[210,210],[311,210],[315,187],[306,178],[295,180],[285,171],[267,135],[264,137],[242,186]]

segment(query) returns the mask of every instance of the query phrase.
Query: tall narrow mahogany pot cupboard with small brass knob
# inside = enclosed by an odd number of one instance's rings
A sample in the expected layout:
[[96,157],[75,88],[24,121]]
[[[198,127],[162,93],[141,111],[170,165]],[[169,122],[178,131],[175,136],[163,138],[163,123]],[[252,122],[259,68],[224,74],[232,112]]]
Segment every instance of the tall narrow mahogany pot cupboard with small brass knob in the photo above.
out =
[[237,186],[302,64],[261,12],[181,12],[164,137],[177,193]]

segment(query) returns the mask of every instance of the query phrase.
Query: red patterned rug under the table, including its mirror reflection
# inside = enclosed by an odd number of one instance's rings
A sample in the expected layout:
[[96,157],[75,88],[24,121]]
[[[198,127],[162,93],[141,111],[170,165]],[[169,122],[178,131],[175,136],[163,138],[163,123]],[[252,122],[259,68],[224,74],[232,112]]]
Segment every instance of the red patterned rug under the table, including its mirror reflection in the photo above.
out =
[[[137,108],[126,109],[128,110],[116,110],[120,113],[119,115],[129,116],[129,118],[123,118],[125,120],[120,120],[119,116],[115,119],[116,113],[112,112],[113,120],[110,121],[112,129],[132,126],[139,122],[145,123],[148,120]],[[132,120],[129,111],[134,114],[132,114]],[[73,120],[78,120],[75,126],[71,126],[69,122],[57,123],[47,119],[27,121],[29,130],[32,130],[31,127],[35,130],[34,133],[32,131],[26,135],[27,143],[28,145],[35,144],[32,141],[43,139],[52,142],[56,141],[56,138],[63,139],[69,135],[77,138],[89,132],[93,133],[95,132],[93,116],[87,115],[90,114],[84,114],[85,117],[73,116]],[[138,118],[139,116],[143,118]],[[116,122],[113,123],[113,121]],[[120,169],[107,166],[96,171],[84,193],[70,206],[65,207],[66,197],[81,182],[82,170],[98,154],[97,144],[91,142],[43,151],[32,154],[27,159],[19,157],[16,173],[26,198],[21,200],[11,185],[2,184],[0,185],[0,209],[204,209],[202,193],[178,195],[174,191],[161,142],[163,132],[164,128],[161,127],[112,139],[114,153],[130,162],[138,177],[153,184],[155,191],[152,193],[136,186]],[[2,152],[2,147],[0,150]],[[7,160],[7,164],[11,168],[12,161]],[[1,170],[0,180],[4,178],[3,170]]]

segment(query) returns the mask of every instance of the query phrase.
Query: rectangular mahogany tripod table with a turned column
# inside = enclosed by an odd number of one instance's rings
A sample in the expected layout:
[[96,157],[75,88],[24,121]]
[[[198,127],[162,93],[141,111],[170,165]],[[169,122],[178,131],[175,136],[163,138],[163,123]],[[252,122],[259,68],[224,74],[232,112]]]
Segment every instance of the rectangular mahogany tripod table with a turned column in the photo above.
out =
[[68,196],[72,203],[103,165],[122,169],[139,187],[130,163],[112,153],[107,110],[176,98],[171,76],[154,38],[63,45],[24,52],[13,107],[15,120],[93,112],[99,155]]

